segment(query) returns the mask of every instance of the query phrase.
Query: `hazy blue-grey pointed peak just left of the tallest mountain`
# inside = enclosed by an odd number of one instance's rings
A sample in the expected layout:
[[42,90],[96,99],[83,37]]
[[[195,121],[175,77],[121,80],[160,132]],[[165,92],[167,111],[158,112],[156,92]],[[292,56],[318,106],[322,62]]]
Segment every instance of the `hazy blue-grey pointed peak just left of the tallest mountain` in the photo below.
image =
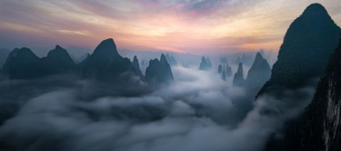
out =
[[270,79],[270,76],[270,65],[260,53],[257,53],[254,64],[247,72],[246,85],[249,87],[261,87]]

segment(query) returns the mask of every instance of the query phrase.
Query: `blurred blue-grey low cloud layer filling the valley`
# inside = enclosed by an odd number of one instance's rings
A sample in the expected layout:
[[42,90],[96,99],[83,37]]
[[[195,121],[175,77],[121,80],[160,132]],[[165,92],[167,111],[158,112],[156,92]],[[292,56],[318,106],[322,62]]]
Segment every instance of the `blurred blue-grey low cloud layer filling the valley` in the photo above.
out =
[[[252,111],[239,116],[244,106],[235,102],[247,94],[232,87],[230,78],[225,82],[211,72],[183,67],[173,73],[173,85],[135,96],[98,95],[98,84],[80,79],[55,82],[60,86],[49,89],[46,79],[1,82],[16,86],[8,91],[22,96],[2,96],[2,104],[18,109],[0,127],[0,142],[18,150],[262,150],[268,136],[300,113],[314,93],[304,88],[285,92],[281,100],[261,96],[250,100]],[[27,86],[35,91],[18,88]]]

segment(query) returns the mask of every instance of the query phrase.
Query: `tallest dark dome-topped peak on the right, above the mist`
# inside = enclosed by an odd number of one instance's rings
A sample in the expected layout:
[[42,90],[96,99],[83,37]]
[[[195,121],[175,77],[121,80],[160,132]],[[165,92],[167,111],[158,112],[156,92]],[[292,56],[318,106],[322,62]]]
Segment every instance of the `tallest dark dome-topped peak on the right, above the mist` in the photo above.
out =
[[271,78],[259,95],[302,87],[321,76],[339,34],[340,28],[323,5],[309,5],[286,31]]

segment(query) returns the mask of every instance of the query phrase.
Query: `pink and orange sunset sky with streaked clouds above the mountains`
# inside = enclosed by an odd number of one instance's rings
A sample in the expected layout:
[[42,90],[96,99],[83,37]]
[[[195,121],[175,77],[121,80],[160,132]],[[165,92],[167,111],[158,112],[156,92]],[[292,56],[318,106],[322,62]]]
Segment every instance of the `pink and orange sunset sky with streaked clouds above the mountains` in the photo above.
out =
[[341,25],[338,0],[2,0],[0,48],[79,46],[114,38],[118,49],[227,54],[278,51],[307,5]]

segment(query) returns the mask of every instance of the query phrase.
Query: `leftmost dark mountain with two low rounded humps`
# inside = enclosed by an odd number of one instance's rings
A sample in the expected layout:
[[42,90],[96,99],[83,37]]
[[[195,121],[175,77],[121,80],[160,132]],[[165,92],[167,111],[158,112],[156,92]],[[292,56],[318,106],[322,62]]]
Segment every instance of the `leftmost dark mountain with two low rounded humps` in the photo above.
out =
[[15,48],[7,57],[3,72],[10,79],[29,79],[75,70],[75,63],[67,51],[59,45],[39,58],[28,48]]

